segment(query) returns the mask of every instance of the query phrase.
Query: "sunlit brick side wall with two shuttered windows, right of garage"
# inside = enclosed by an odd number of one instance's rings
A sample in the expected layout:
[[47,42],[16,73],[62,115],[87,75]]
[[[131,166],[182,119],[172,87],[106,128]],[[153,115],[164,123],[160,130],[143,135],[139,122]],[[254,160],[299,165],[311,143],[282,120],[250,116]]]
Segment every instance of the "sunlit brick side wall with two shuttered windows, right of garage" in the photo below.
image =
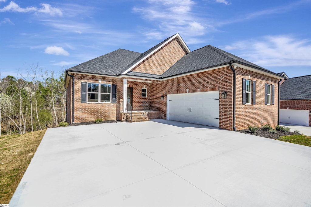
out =
[[[277,94],[278,79],[265,76],[243,68],[236,69],[236,121],[237,130],[246,129],[248,126],[261,127],[270,124],[277,125]],[[249,78],[250,75],[250,78]],[[251,104],[242,104],[242,79],[252,80],[251,83]],[[256,81],[256,104],[252,105],[253,81]],[[269,83],[271,81],[271,83]],[[265,83],[274,85],[274,105],[265,105]],[[271,87],[272,88],[272,87]],[[272,89],[271,89],[272,90]],[[272,98],[272,95],[271,95]],[[272,103],[272,102],[271,102]]]

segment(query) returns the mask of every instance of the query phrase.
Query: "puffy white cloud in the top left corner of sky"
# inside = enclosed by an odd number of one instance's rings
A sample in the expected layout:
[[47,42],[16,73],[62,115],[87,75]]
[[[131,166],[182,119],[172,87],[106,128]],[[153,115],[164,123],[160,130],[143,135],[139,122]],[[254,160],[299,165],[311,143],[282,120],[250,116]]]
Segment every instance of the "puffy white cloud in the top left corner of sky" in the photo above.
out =
[[18,4],[12,1],[10,2],[9,5],[3,7],[3,9],[0,9],[0,12],[15,11],[15,12],[22,12],[22,13],[26,13],[26,12],[45,13],[51,16],[55,16],[55,15],[62,16],[63,15],[60,9],[51,7],[51,5],[49,4],[41,3],[40,5],[42,6],[42,8],[37,8],[37,7],[21,8],[20,6],[18,6]]

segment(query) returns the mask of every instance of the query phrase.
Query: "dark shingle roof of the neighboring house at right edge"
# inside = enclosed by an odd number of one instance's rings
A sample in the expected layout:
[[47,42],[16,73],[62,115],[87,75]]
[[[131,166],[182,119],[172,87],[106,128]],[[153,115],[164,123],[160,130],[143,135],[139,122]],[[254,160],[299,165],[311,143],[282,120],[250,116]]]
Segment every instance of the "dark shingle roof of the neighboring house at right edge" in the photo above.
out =
[[289,78],[280,86],[280,100],[311,99],[311,75]]

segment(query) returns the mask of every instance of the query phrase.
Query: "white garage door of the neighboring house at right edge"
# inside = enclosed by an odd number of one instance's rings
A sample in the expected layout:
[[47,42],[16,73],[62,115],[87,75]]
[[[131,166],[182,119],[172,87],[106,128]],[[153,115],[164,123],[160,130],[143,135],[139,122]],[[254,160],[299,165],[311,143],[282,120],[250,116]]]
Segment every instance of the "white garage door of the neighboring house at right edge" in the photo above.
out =
[[280,122],[309,126],[309,110],[280,109]]

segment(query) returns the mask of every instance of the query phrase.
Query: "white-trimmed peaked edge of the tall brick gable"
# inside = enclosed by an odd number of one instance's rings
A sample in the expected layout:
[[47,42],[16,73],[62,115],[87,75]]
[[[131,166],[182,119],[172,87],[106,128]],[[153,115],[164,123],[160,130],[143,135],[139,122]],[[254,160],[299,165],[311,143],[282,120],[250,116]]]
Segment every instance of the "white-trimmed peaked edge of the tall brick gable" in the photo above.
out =
[[157,44],[156,46],[150,48],[149,50],[147,50],[146,52],[142,53],[140,56],[138,56],[131,64],[128,65],[128,67],[126,67],[122,73],[126,74],[129,71],[131,71],[134,67],[136,67],[138,64],[140,64],[141,62],[143,62],[144,60],[146,60],[148,57],[150,57],[153,53],[156,53],[160,48],[162,48],[163,46],[165,46],[165,44],[169,43],[171,40],[173,40],[174,38],[177,38],[180,43],[183,45],[184,49],[186,50],[187,53],[190,53],[190,49],[188,48],[188,46],[186,45],[186,43],[183,41],[183,39],[181,38],[181,36],[179,35],[179,33],[174,34],[172,36],[170,36],[169,38],[163,40],[162,42],[160,42],[159,44]]

